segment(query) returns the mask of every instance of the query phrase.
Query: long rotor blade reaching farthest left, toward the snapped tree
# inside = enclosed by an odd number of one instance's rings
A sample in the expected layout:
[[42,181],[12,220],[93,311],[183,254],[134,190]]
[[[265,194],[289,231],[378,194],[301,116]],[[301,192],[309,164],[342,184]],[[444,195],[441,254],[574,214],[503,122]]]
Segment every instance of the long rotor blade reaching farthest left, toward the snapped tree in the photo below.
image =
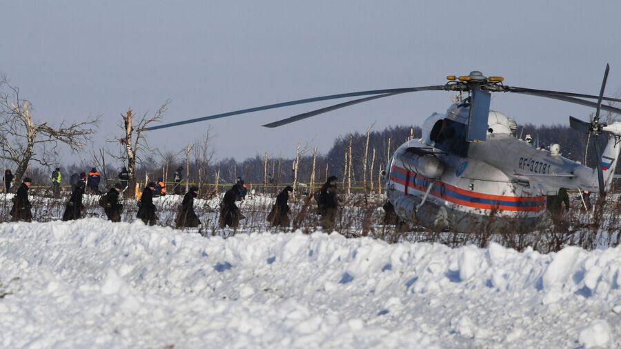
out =
[[313,102],[318,102],[318,101],[327,101],[327,100],[330,100],[330,99],[340,99],[340,98],[347,98],[347,97],[368,96],[368,95],[371,95],[371,94],[398,94],[398,93],[417,92],[417,91],[440,91],[440,90],[445,90],[445,89],[446,89],[446,87],[444,85],[435,85],[435,86],[424,86],[424,87],[414,87],[414,88],[388,88],[388,89],[384,89],[384,90],[368,90],[368,91],[348,92],[348,93],[341,93],[341,94],[330,94],[328,96],[313,97],[313,98],[306,98],[306,99],[298,99],[296,101],[288,101],[288,102],[282,102],[282,103],[269,104],[267,106],[259,106],[259,107],[254,107],[254,108],[247,108],[247,109],[242,109],[242,110],[236,110],[236,111],[233,111],[233,112],[224,112],[224,113],[221,113],[221,114],[213,114],[213,115],[209,115],[207,117],[197,117],[195,119],[188,119],[188,120],[184,120],[184,121],[176,121],[176,122],[172,122],[172,123],[165,123],[164,125],[157,125],[157,126],[151,126],[149,128],[145,128],[145,130],[148,130],[148,131],[159,130],[161,128],[169,128],[169,127],[172,127],[172,126],[186,125],[188,123],[195,123],[195,122],[199,122],[199,121],[219,119],[219,118],[222,118],[222,117],[232,117],[233,115],[246,114],[248,112],[259,112],[261,110],[269,110],[269,109],[282,108],[282,107],[288,107],[288,106],[296,106],[297,104],[313,103]]

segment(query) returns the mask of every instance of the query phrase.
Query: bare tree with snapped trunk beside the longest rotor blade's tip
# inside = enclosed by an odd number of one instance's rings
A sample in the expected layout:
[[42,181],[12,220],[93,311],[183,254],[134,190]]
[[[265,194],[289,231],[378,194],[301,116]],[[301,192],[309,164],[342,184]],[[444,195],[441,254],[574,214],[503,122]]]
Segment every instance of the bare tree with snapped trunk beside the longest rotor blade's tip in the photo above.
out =
[[134,114],[131,108],[126,112],[126,114],[121,114],[121,117],[123,117],[123,123],[119,125],[119,127],[124,130],[125,134],[124,137],[117,138],[112,142],[119,143],[122,148],[122,155],[116,158],[127,162],[127,172],[129,172],[130,177],[128,185],[130,188],[134,188],[136,186],[136,161],[140,159],[139,152],[152,151],[144,138],[145,128],[147,128],[151,123],[161,121],[161,118],[164,117],[166,110],[168,110],[168,104],[170,104],[170,102],[170,99],[167,99],[166,102],[164,102],[164,104],[162,104],[152,115],[145,112],[138,123],[135,122]]

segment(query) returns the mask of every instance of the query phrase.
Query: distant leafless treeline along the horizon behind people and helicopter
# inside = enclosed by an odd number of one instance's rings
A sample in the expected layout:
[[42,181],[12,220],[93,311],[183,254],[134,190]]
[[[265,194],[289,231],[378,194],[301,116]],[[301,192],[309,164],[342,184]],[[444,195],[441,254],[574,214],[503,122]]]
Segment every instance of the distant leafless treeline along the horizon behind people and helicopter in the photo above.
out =
[[[517,129],[517,137],[524,138],[526,134],[531,134],[533,142],[548,148],[553,143],[559,143],[561,153],[564,157],[574,161],[584,162],[584,150],[587,137],[571,128],[562,125],[535,126],[527,123]],[[373,181],[377,188],[378,176],[385,168],[388,158],[392,152],[408,139],[421,137],[421,129],[411,126],[392,126],[384,130],[371,130],[366,133],[345,134],[339,139],[335,139],[333,146],[326,154],[317,153],[315,156],[315,183],[322,183],[328,175],[335,175],[344,180],[348,177],[348,168],[351,163],[351,181],[362,183],[366,178],[368,182]],[[368,146],[367,146],[368,140]],[[602,148],[605,145],[606,137],[600,137]],[[589,155],[587,165],[594,166],[595,155],[593,139],[589,142]],[[351,159],[348,159],[351,144]],[[202,146],[202,148],[200,147]],[[196,147],[196,148],[194,148]],[[197,149],[201,148],[201,149]],[[365,157],[366,150],[366,157]],[[295,154],[296,149],[291,150]],[[297,161],[297,182],[311,182],[313,170],[314,149],[304,144],[299,146],[299,160]],[[264,181],[270,187],[282,186],[285,183],[293,183],[295,173],[294,165],[296,159],[273,157],[268,154],[265,156],[257,155],[242,161],[232,158],[211,161],[213,149],[210,149],[208,141],[203,141],[202,145],[195,145],[190,152],[181,150],[178,153],[167,152],[159,154],[151,152],[150,156],[142,159],[137,166],[137,180],[144,182],[147,178],[155,180],[163,177],[166,181],[172,181],[173,174],[177,168],[183,168],[184,179],[187,177],[189,165],[189,180],[193,183],[213,184],[219,183],[224,186],[226,183],[234,183],[236,177],[242,177],[246,183],[253,183],[255,187],[261,188]],[[365,161],[366,159],[366,166]],[[108,184],[113,183],[121,167],[124,166],[119,161],[106,163],[105,157],[93,157],[93,161],[81,161],[81,163],[68,164],[61,166],[63,182],[68,180],[72,173],[86,172],[95,167],[99,170],[104,181]],[[29,171],[36,183],[49,183],[49,177],[53,169],[32,168]],[[48,173],[49,172],[49,173]],[[366,173],[366,175],[365,175]],[[367,183],[369,186],[369,183]]]

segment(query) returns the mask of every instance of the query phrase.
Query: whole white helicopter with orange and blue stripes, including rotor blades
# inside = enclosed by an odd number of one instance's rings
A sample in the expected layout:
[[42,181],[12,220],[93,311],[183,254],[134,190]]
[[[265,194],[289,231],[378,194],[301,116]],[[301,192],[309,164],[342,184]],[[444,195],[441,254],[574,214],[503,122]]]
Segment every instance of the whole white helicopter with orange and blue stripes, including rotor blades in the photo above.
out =
[[[382,171],[386,198],[405,222],[426,228],[467,232],[486,224],[491,231],[524,230],[549,226],[546,197],[561,188],[599,192],[604,197],[611,185],[621,150],[621,122],[600,121],[600,111],[621,114],[620,108],[602,104],[621,102],[604,97],[609,65],[604,71],[600,94],[536,90],[504,85],[504,78],[486,77],[480,71],[446,77],[443,85],[367,90],[299,99],[185,121],[152,126],[158,130],[237,114],[282,108],[304,103],[362,97],[334,106],[304,112],[267,123],[268,128],[308,119],[357,103],[419,91],[451,91],[465,98],[444,113],[433,113],[422,126],[422,137],[403,143]],[[562,157],[560,146],[549,150],[517,137],[517,123],[502,112],[490,110],[491,94],[510,92],[557,99],[595,108],[586,122],[569,117],[570,127],[595,139],[596,168]],[[602,150],[597,139],[606,135]],[[584,203],[584,198],[582,198]],[[493,217],[493,219],[487,219]]]

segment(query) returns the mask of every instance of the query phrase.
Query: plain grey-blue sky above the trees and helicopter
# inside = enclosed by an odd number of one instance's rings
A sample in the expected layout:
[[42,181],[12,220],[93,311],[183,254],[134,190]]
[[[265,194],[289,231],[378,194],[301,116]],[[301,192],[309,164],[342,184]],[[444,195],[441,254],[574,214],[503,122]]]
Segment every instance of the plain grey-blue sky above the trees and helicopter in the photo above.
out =
[[[620,1],[3,1],[0,72],[40,121],[101,115],[96,146],[119,114],[172,99],[165,122],[324,94],[428,86],[481,70],[510,86],[598,94],[621,87]],[[281,128],[262,128],[327,103],[149,132],[181,150],[216,134],[218,158],[292,157],[297,140],[327,151],[339,134],[420,125],[448,92],[363,103]],[[589,108],[494,94],[519,123],[568,123]],[[68,161],[70,161],[68,159]],[[70,161],[72,162],[72,161]]]

